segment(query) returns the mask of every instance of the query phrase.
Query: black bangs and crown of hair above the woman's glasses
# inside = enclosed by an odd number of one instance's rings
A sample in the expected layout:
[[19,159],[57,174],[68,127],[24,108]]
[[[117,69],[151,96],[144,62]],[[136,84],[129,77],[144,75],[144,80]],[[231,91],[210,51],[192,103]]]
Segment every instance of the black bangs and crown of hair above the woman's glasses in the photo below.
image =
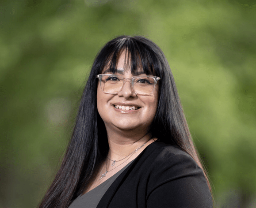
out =
[[125,69],[131,70],[133,75],[147,74],[159,75],[159,58],[156,52],[153,52],[151,46],[144,37],[121,36],[110,41],[102,49],[105,54],[104,63],[101,66],[101,73],[107,69],[111,74],[115,74],[118,65],[118,59],[122,52],[125,52]]

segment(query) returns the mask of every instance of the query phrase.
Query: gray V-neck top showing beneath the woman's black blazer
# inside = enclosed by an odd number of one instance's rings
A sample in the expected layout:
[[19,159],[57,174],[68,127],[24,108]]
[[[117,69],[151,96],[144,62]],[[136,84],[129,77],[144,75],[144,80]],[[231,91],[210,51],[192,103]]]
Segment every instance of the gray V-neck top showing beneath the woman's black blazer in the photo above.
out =
[[[131,161],[132,162],[132,161]],[[131,163],[130,162],[130,163]],[[69,208],[96,208],[99,204],[99,201],[107,191],[107,189],[111,186],[111,184],[115,181],[115,179],[130,165],[128,163],[125,167],[123,167],[120,171],[118,171],[115,175],[108,178],[103,183],[99,184],[96,188],[90,190],[84,195],[78,196],[70,205]]]

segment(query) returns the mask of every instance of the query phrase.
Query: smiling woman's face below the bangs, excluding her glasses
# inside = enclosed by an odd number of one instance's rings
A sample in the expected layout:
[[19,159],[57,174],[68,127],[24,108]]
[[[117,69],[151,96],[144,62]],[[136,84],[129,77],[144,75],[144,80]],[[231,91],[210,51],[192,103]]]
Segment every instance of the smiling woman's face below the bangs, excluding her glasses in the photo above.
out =
[[[124,70],[125,63],[125,52],[123,52],[118,59],[118,72],[116,75],[131,78],[134,75],[131,74],[130,69]],[[102,74],[104,74],[106,70],[107,69],[104,69]],[[157,102],[158,85],[156,85],[153,93],[149,95],[137,95],[134,93],[130,82],[126,81],[122,90],[118,94],[113,95],[103,93],[98,83],[97,108],[107,130],[149,131],[149,126],[156,115]],[[119,109],[120,106],[121,109]],[[129,106],[129,108],[132,106],[135,108],[138,107],[138,110],[126,110],[128,109],[126,108],[127,106]],[[119,108],[117,109],[116,107]]]

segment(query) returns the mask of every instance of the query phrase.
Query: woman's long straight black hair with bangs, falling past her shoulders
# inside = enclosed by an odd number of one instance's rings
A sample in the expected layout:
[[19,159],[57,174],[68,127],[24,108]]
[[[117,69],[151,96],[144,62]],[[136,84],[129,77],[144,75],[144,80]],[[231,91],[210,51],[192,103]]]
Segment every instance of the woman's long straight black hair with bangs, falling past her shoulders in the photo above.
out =
[[[151,125],[151,134],[167,144],[176,145],[194,158],[203,170],[203,165],[193,144],[187,121],[172,71],[161,49],[141,36],[120,36],[109,41],[97,54],[88,81],[81,97],[71,140],[40,208],[67,208],[70,202],[83,193],[109,150],[107,132],[100,118],[96,94],[98,79],[104,67],[115,73],[118,56],[126,50],[132,74],[143,68],[145,74],[160,77],[158,106]],[[206,176],[206,171],[204,171]],[[210,183],[206,176],[208,186]]]

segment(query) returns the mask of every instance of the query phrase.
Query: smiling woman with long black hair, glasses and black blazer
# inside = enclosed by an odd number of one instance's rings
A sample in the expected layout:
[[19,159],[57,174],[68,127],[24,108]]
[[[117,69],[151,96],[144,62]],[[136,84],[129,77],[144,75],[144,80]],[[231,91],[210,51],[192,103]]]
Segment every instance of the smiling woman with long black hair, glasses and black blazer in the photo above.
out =
[[172,72],[152,41],[120,36],[96,56],[46,207],[212,207]]

